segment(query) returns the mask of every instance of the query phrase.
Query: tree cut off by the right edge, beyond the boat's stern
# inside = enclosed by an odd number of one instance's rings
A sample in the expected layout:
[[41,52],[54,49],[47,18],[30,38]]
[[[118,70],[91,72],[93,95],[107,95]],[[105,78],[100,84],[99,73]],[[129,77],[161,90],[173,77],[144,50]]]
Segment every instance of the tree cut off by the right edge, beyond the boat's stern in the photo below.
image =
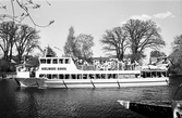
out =
[[174,37],[172,53],[169,55],[172,63],[171,73],[182,73],[182,35]]

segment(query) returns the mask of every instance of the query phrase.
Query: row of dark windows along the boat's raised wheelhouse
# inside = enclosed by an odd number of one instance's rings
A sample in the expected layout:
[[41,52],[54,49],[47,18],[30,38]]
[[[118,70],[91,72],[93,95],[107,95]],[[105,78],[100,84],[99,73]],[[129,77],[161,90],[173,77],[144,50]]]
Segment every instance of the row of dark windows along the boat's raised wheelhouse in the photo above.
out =
[[40,58],[40,64],[70,64],[70,58]]

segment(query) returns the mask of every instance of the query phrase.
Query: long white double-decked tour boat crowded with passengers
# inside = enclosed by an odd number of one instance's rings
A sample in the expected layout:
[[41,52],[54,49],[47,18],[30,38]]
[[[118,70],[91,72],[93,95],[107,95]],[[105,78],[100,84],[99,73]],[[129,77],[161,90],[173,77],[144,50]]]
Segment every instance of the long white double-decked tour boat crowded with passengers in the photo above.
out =
[[122,88],[169,84],[167,69],[98,70],[93,65],[77,66],[71,57],[39,57],[39,67],[36,69],[21,64],[16,67],[14,79],[21,87],[41,88]]

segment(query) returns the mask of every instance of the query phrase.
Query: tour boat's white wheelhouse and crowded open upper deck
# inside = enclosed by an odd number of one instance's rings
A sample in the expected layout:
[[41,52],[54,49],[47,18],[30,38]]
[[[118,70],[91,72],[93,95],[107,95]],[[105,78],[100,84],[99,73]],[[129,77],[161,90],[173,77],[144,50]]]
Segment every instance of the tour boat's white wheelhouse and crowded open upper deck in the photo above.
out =
[[80,61],[75,61],[72,57],[40,57],[39,58],[39,70],[43,71],[81,71],[81,70],[141,70],[146,71],[147,70],[167,70],[167,67],[165,64],[160,64],[157,66],[154,65],[147,65],[147,66],[139,66],[135,63],[132,64],[124,64],[119,61],[110,61],[105,63],[80,63]]

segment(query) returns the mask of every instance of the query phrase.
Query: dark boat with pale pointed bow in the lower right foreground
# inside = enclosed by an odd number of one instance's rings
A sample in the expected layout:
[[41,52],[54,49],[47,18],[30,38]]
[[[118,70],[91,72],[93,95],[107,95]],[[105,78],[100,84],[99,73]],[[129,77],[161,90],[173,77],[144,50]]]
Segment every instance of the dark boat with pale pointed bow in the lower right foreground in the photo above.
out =
[[[118,101],[123,107],[148,118],[173,118],[170,101]],[[180,117],[181,118],[181,117]]]

